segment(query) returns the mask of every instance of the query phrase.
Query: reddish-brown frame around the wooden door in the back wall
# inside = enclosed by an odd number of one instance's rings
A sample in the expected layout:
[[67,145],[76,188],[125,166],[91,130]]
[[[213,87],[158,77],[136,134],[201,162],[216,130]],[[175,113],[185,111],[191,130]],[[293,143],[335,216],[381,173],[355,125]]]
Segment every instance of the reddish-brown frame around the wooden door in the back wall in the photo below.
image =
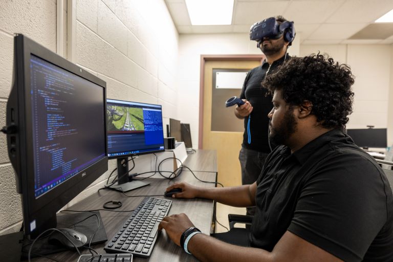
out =
[[205,90],[205,63],[206,61],[225,61],[225,60],[242,60],[242,61],[260,61],[260,64],[265,59],[265,55],[201,55],[201,69],[199,78],[199,134],[198,134],[198,148],[203,149],[203,103]]

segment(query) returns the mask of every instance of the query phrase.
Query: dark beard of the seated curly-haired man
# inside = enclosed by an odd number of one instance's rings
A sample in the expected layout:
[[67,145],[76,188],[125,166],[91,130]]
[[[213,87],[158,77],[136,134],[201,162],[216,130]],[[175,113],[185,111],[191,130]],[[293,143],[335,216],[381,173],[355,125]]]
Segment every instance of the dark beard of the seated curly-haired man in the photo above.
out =
[[[287,139],[296,132],[296,120],[292,112],[292,106],[287,110],[285,116],[278,127],[273,127],[270,124],[269,140],[275,146],[285,145]],[[273,147],[272,147],[273,149]]]

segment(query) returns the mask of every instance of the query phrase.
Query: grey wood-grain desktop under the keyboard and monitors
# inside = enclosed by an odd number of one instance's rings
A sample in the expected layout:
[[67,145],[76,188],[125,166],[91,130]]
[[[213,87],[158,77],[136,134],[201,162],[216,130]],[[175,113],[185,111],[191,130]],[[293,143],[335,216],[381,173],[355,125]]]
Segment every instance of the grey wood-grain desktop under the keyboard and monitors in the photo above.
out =
[[[212,150],[197,150],[195,154],[188,155],[184,165],[195,171],[195,176],[204,181],[216,182],[217,166],[216,154]],[[211,171],[211,172],[208,172]],[[173,183],[185,181],[189,184],[214,187],[214,184],[203,183],[192,176],[192,173],[183,170],[180,176],[174,180],[167,180],[163,178],[148,178],[145,181],[150,182],[149,186],[145,186],[136,190],[126,192],[127,195],[158,195],[163,194],[165,189]],[[158,198],[165,198],[164,195]],[[110,200],[120,200],[123,205],[116,210],[133,210],[143,200],[143,197],[127,198],[123,193],[111,190],[100,190],[81,202],[70,207],[70,210],[91,210],[102,208],[103,203]],[[206,199],[173,199],[172,207],[169,214],[186,213],[190,220],[196,227],[201,229],[205,234],[210,234],[212,226],[212,216],[214,209],[214,202]],[[110,211],[100,211],[102,220],[104,222],[105,231],[108,239],[111,239],[118,231],[120,226],[132,212],[117,213]],[[103,250],[105,243],[92,246],[98,253],[106,253]],[[87,249],[82,251],[83,254],[89,254]],[[49,255],[60,261],[77,261],[79,255],[76,251],[66,251],[62,253]],[[34,258],[32,261],[53,261],[47,258]],[[161,232],[155,244],[154,250],[150,258],[135,257],[133,261],[197,261],[193,256],[186,254],[183,249],[175,245],[165,231]]]

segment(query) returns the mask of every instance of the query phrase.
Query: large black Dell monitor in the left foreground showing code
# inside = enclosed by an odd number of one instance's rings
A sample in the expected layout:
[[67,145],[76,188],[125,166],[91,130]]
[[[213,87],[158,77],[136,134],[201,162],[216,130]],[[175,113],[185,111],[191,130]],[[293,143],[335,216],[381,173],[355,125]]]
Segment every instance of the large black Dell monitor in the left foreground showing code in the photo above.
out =
[[28,238],[55,228],[56,212],[107,170],[105,87],[77,65],[15,35],[6,132]]

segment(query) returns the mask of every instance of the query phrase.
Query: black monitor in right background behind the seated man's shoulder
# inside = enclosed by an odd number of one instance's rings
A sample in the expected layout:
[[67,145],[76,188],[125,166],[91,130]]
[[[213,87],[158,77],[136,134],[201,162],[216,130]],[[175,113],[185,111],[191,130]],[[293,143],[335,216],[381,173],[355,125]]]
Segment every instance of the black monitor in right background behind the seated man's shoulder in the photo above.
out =
[[346,134],[348,134],[359,147],[386,148],[387,146],[386,128],[346,129]]

